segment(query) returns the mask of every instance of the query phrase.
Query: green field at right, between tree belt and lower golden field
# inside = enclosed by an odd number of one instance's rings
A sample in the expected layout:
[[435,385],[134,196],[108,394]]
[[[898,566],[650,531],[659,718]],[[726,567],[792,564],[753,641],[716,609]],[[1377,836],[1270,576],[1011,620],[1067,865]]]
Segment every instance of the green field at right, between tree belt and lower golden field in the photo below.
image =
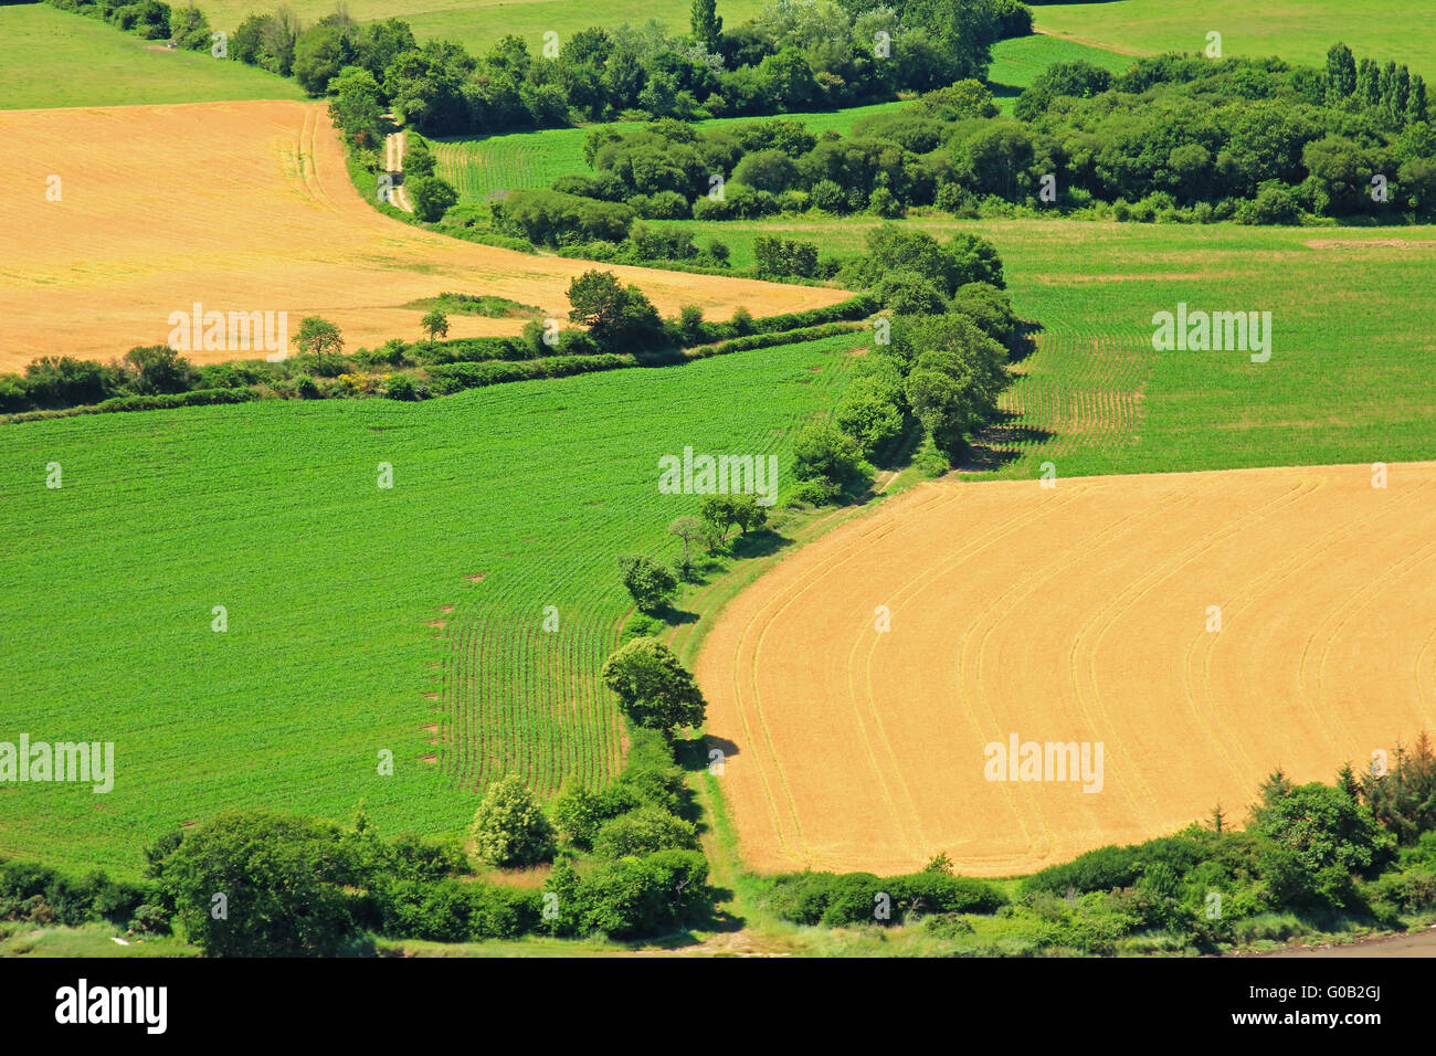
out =
[[[681,221],[673,221],[681,223]],[[752,261],[755,234],[859,251],[870,217],[696,224]],[[1037,320],[987,443],[1002,477],[1436,458],[1436,228],[1272,228],[1067,220],[909,220],[972,231],[1002,254],[1014,307]],[[1178,302],[1272,313],[1272,355],[1155,352]],[[1037,431],[1037,432],[1034,432]],[[1041,432],[1050,432],[1050,437]]]

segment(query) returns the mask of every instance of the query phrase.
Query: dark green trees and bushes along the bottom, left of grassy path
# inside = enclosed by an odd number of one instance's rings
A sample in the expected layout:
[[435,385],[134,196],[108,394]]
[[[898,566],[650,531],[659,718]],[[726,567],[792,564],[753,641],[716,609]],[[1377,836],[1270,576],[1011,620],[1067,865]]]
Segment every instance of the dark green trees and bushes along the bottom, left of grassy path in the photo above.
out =
[[0,918],[172,928],[215,957],[360,953],[375,935],[639,938],[711,909],[694,816],[668,740],[638,728],[623,772],[602,790],[566,787],[547,810],[516,776],[484,795],[474,855],[494,868],[553,862],[541,889],[475,875],[455,840],[382,839],[362,809],[350,826],[227,810],[155,840],[139,884],[3,862]]

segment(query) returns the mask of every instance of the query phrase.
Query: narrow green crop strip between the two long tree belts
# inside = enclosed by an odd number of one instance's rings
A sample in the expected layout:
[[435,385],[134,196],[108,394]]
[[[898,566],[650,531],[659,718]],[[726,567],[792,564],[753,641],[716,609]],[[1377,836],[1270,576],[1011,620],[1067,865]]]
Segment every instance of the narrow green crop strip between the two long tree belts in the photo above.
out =
[[[814,134],[827,129],[846,134],[853,122],[880,114],[902,102],[879,102],[817,114],[785,114],[806,124]],[[722,128],[752,118],[715,118],[695,122],[699,128]],[[605,128],[632,129],[640,124],[612,122]],[[464,203],[484,201],[498,190],[547,187],[570,172],[590,172],[583,159],[583,139],[590,126],[546,128],[538,132],[508,132],[475,139],[448,139],[438,144],[439,175],[460,193]]]

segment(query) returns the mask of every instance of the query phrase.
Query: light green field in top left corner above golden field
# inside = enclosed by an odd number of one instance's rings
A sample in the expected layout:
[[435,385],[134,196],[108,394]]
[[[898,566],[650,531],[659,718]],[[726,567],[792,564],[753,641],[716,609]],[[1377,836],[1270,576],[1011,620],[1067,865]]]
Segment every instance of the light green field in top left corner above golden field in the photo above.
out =
[[0,109],[303,98],[293,80],[96,19],[47,4],[0,7]]

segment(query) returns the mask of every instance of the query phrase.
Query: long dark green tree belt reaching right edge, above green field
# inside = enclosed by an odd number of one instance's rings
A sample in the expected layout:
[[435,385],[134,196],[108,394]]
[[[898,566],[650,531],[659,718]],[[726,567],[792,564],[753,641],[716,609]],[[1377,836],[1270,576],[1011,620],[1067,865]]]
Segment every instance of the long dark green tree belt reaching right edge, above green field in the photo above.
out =
[[962,80],[869,115],[847,136],[813,135],[790,118],[602,128],[584,144],[592,175],[561,177],[520,201],[560,194],[570,214],[590,210],[616,227],[810,208],[978,216],[1011,204],[1109,208],[1119,220],[1436,214],[1425,82],[1396,63],[1358,65],[1341,45],[1328,66],[1169,55],[1111,75],[1054,63],[1012,118],[987,88]]

